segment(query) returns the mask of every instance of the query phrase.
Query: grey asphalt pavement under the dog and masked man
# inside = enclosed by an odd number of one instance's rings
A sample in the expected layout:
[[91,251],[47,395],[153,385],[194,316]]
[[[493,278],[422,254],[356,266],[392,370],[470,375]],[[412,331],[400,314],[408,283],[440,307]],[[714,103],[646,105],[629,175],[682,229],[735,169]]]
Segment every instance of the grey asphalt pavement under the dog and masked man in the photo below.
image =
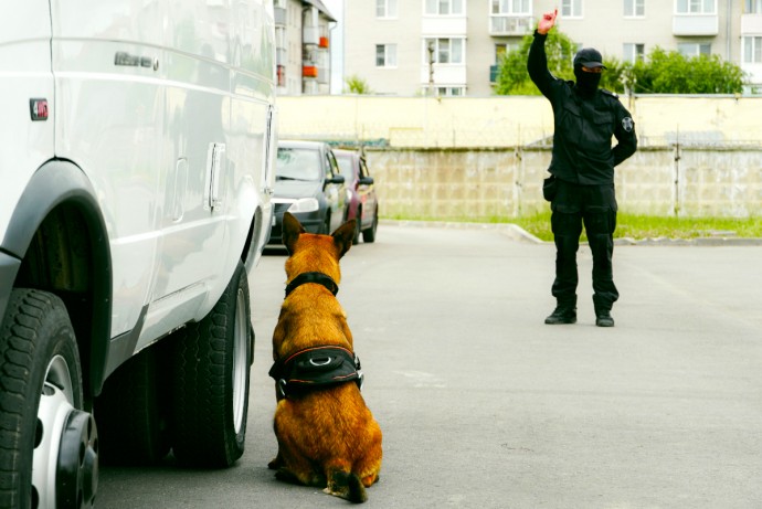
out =
[[[616,327],[546,326],[554,251],[495,229],[382,225],[338,294],[384,432],[377,508],[762,507],[762,247],[617,246]],[[99,508],[332,508],[273,478],[271,337],[283,254],[252,276],[244,457],[103,469]]]

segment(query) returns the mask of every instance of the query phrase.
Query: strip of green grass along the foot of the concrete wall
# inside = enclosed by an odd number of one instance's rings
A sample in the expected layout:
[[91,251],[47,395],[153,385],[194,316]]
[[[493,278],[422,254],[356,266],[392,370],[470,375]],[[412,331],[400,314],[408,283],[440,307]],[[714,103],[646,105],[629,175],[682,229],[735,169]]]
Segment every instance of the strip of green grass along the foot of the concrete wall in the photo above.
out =
[[[389,218],[409,221],[438,221],[433,218]],[[514,223],[542,241],[552,241],[550,211],[522,218],[449,219],[455,222]],[[759,218],[664,218],[655,215],[627,214],[616,216],[615,238],[699,238],[699,237],[762,238],[762,216]],[[588,238],[582,232],[581,240]]]

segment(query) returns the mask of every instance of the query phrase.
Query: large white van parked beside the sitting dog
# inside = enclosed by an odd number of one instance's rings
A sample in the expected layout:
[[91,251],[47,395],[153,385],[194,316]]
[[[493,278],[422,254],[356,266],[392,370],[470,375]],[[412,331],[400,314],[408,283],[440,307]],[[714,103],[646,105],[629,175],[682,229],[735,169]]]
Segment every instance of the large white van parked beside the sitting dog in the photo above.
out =
[[272,0],[0,7],[0,508],[243,454],[274,55]]

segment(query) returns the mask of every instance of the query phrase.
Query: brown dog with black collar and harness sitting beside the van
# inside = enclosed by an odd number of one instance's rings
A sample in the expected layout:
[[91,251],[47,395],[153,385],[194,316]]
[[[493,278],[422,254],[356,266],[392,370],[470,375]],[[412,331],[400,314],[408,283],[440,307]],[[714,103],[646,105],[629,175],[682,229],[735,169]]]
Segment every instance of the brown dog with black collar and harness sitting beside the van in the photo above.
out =
[[335,297],[339,258],[353,235],[354,220],[332,235],[316,235],[284,215],[283,243],[290,256],[271,370],[278,392],[278,454],[268,466],[279,479],[363,502],[364,488],[379,478],[381,428],[360,394],[352,333]]

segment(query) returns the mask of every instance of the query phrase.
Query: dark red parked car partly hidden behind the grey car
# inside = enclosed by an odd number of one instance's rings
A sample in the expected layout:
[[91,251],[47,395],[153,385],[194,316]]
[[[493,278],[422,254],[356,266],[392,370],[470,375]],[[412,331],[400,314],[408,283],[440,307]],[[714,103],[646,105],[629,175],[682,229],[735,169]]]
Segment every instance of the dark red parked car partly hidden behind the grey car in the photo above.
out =
[[375,242],[375,231],[379,227],[379,201],[375,197],[373,178],[368,170],[368,162],[360,151],[335,149],[334,153],[349,193],[347,219],[358,220],[354,243],[360,242],[360,233],[364,242]]

